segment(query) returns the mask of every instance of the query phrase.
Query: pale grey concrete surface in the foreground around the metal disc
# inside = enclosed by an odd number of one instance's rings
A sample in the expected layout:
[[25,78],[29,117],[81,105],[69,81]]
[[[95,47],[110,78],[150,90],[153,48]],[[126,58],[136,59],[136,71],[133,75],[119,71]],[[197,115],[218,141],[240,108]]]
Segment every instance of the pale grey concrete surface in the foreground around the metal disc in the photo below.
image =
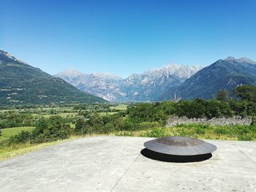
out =
[[256,191],[256,142],[208,141],[195,163],[140,154],[141,137],[72,140],[0,162],[0,191]]

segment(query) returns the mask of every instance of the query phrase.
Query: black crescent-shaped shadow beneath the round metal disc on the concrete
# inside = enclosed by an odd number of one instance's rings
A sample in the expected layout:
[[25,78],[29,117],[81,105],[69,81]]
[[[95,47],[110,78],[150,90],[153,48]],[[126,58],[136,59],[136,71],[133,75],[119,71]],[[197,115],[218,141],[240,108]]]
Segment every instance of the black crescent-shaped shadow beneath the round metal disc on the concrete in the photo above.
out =
[[203,155],[168,155],[164,153],[157,153],[153,150],[148,150],[144,148],[140,151],[141,155],[146,158],[151,158],[157,161],[165,161],[172,163],[189,163],[189,162],[199,162],[206,161],[211,158],[211,153],[203,154]]

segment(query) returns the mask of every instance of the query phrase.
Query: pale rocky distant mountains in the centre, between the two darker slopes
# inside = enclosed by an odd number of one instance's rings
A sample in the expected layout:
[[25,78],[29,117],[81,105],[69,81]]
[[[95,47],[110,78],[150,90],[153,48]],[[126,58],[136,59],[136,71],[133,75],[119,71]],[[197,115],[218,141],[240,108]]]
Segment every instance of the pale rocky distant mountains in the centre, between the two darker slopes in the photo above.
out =
[[125,80],[111,74],[83,74],[75,70],[66,70],[55,77],[108,101],[154,101],[200,69],[200,66],[170,64],[143,74],[132,74]]

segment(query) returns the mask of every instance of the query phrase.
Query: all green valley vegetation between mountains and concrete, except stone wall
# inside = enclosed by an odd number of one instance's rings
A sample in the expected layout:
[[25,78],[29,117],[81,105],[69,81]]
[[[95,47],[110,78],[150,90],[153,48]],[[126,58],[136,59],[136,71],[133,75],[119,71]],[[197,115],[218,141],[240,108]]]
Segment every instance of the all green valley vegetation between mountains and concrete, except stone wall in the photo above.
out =
[[[72,104],[62,106],[34,106],[2,109],[0,126],[33,126],[0,142],[2,151],[17,146],[35,146],[69,137],[95,134],[163,137],[187,136],[200,139],[256,140],[256,88],[242,85],[233,91],[237,99],[229,99],[220,91],[217,99],[192,101],[164,101],[125,105]],[[67,115],[61,115],[67,114]],[[180,124],[165,126],[170,116],[187,118],[222,118],[251,116],[250,126],[210,126],[208,124]],[[3,134],[3,131],[0,131]],[[18,147],[19,148],[19,147]],[[4,150],[5,149],[5,150]],[[3,152],[4,153],[4,152]],[[0,154],[1,156],[1,154]]]

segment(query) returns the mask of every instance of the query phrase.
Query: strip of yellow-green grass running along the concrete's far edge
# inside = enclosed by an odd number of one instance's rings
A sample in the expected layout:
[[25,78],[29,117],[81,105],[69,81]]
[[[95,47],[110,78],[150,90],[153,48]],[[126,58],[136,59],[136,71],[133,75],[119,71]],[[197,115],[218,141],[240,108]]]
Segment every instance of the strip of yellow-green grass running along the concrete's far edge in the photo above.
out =
[[[73,125],[72,125],[73,126]],[[6,128],[9,129],[9,128]],[[3,129],[4,130],[4,129]],[[16,132],[17,133],[17,132]],[[115,131],[109,134],[87,134],[84,137],[95,137],[102,135],[116,135],[128,137],[167,137],[167,136],[186,136],[198,139],[221,139],[221,140],[242,140],[256,141],[256,126],[210,126],[202,124],[181,124],[174,127],[155,126],[140,131]],[[28,153],[50,145],[56,145],[70,139],[78,139],[80,136],[72,136],[56,142],[42,144],[15,144],[11,146],[1,145],[0,161],[12,158],[17,155]],[[0,142],[3,143],[4,141]]]

